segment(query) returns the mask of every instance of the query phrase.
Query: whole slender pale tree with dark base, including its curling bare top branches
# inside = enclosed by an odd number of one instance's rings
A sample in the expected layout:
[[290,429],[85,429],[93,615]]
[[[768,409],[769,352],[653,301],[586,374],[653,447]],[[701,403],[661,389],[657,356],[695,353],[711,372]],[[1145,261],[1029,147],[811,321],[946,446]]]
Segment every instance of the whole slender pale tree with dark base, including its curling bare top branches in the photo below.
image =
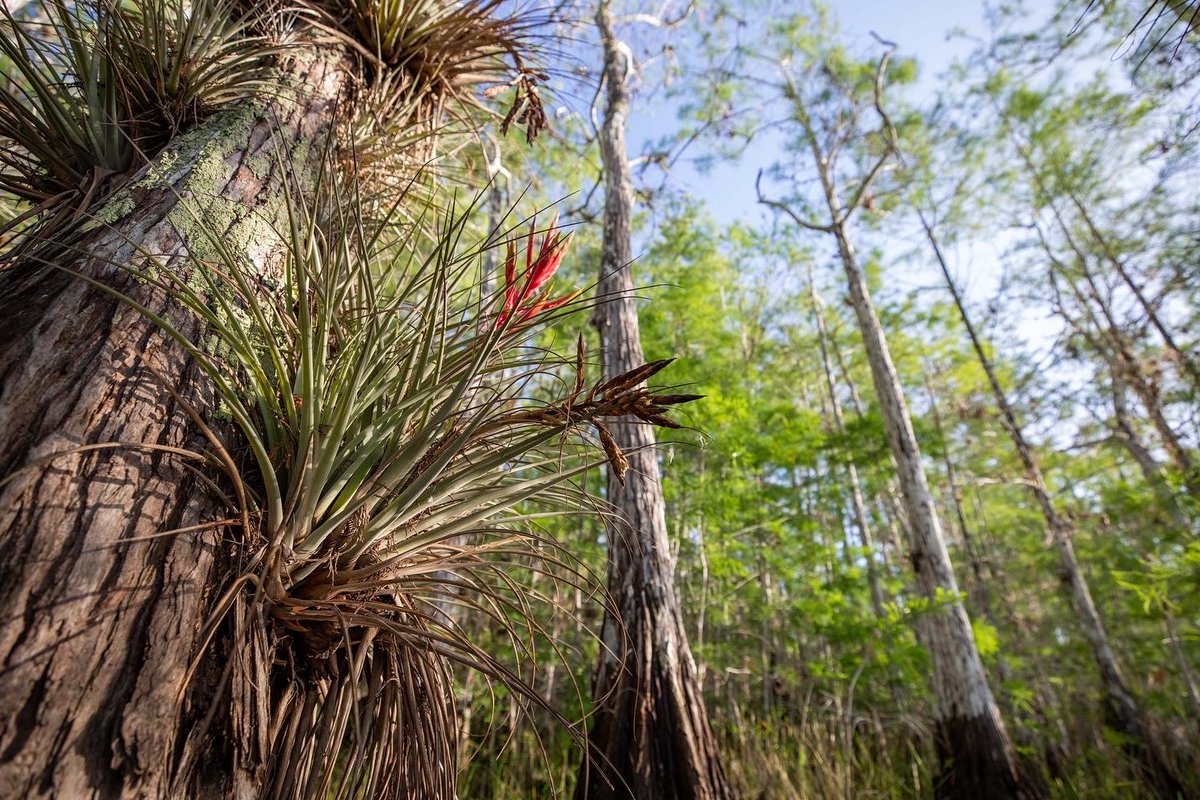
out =
[[[822,215],[805,216],[786,201],[764,197],[761,187],[758,199],[797,224],[830,236],[846,276],[850,305],[866,348],[884,432],[896,463],[907,517],[908,558],[920,595],[931,603],[920,618],[919,638],[934,663],[934,721],[941,772],[937,796],[1034,798],[1040,790],[1018,769],[1015,751],[988,684],[971,621],[959,599],[958,582],[929,489],[904,387],[850,233],[853,215],[874,205],[876,181],[895,166],[896,132],[883,106],[890,54],[889,49],[876,65],[874,77],[866,82],[851,72],[830,80],[833,88],[826,95],[806,82],[815,79],[818,70],[827,71],[827,74],[829,70],[836,70],[839,65],[832,59],[824,62],[818,60],[816,67],[802,76],[796,74],[798,67],[791,64],[784,67],[784,96],[790,102],[802,142],[811,156]],[[846,68],[853,70],[848,65]],[[871,101],[863,102],[854,96],[856,80],[860,82],[857,89],[865,91]],[[839,90],[841,86],[846,89]],[[838,96],[845,104],[821,106],[829,119],[818,120],[812,108],[820,103],[828,104],[829,96]],[[871,103],[880,121],[880,130],[871,137],[876,155],[860,174],[847,178],[845,169],[839,168],[839,156],[865,136],[860,126],[868,103]],[[842,198],[844,192],[848,192],[846,199]]]

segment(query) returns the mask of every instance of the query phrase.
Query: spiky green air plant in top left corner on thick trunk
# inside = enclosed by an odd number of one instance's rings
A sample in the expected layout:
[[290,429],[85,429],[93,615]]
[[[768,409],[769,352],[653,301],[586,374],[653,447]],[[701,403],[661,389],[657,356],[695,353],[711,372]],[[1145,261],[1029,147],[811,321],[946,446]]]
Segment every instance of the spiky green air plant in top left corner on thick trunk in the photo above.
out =
[[174,133],[260,91],[275,50],[232,10],[232,0],[36,0],[22,18],[0,8],[0,192],[24,216],[79,216]]

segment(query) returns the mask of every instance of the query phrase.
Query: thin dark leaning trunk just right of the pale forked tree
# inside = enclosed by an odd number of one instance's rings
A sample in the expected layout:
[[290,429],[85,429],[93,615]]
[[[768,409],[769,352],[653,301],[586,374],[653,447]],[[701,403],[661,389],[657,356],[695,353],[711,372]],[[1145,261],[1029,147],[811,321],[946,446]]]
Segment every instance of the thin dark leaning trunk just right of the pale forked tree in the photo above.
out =
[[1030,491],[1033,492],[1038,507],[1042,510],[1042,516],[1045,518],[1050,540],[1054,541],[1058,551],[1060,570],[1063,582],[1069,588],[1072,609],[1075,612],[1075,618],[1099,672],[1100,686],[1104,691],[1105,717],[1114,729],[1129,738],[1130,750],[1134,751],[1134,756],[1141,764],[1144,777],[1151,788],[1158,792],[1159,796],[1164,799],[1174,798],[1182,790],[1182,787],[1158,753],[1150,736],[1150,729],[1141,708],[1138,705],[1133,692],[1121,674],[1121,666],[1109,643],[1108,632],[1104,630],[1104,621],[1100,619],[1099,610],[1092,600],[1092,593],[1087,587],[1087,579],[1084,577],[1079,560],[1075,558],[1075,546],[1073,543],[1075,527],[1069,517],[1061,515],[1055,507],[1054,500],[1050,498],[1050,492],[1046,489],[1042,467],[1038,464],[1033,447],[1025,438],[1025,431],[1016,420],[1016,410],[1000,384],[995,365],[991,362],[976,331],[974,324],[971,321],[971,315],[967,313],[966,305],[962,301],[962,294],[959,291],[959,287],[950,275],[950,267],[942,254],[937,235],[925,219],[924,213],[918,211],[918,215],[922,227],[925,230],[925,236],[937,258],[942,277],[946,279],[946,287],[954,299],[954,307],[959,312],[959,319],[962,320],[962,326],[971,339],[971,348],[974,350],[976,359],[979,361],[979,366],[988,378],[992,399],[1000,410],[1001,422],[1009,439],[1012,439],[1013,446],[1016,449],[1016,455],[1025,470],[1026,483]]

